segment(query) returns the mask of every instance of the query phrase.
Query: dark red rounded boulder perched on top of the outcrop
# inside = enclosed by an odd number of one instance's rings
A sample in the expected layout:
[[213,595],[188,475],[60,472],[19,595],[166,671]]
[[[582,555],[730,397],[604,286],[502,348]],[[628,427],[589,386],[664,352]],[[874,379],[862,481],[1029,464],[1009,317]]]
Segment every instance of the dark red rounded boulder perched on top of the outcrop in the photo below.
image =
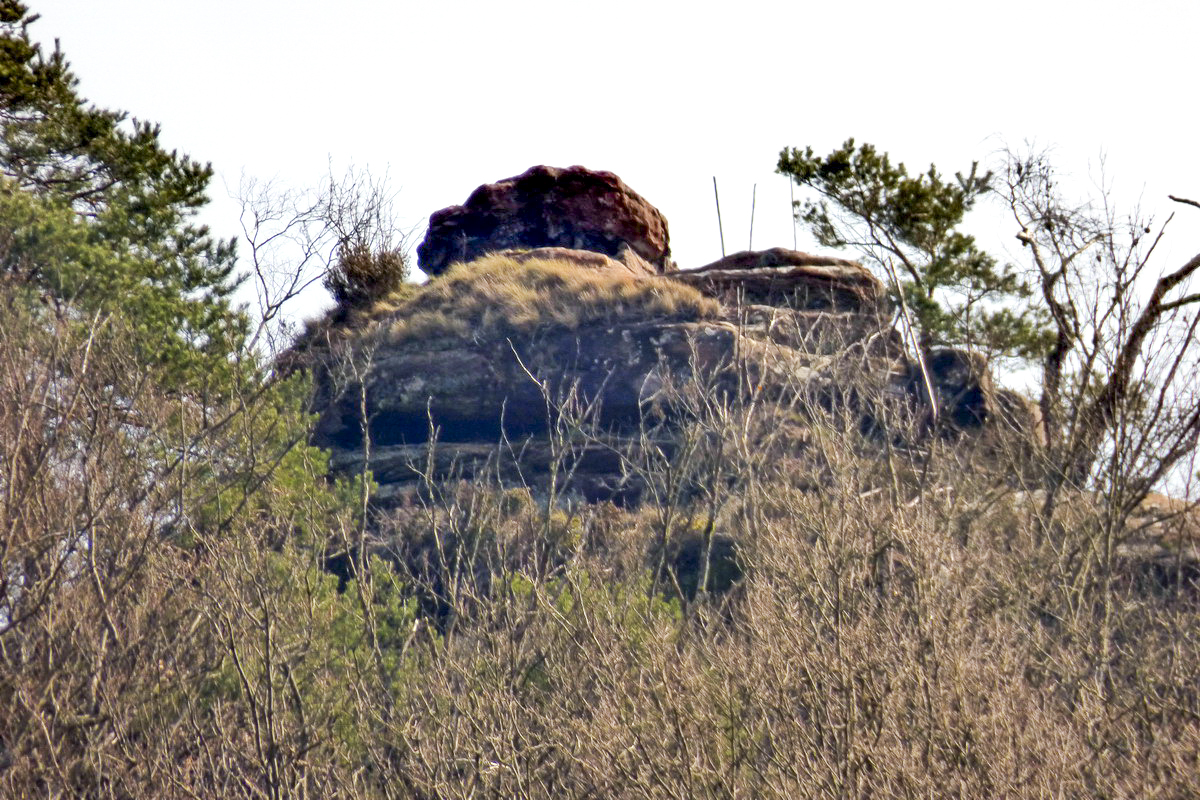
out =
[[533,167],[480,186],[430,217],[416,258],[424,272],[440,275],[485,253],[533,247],[602,253],[638,271],[673,269],[662,213],[617,175],[583,167]]

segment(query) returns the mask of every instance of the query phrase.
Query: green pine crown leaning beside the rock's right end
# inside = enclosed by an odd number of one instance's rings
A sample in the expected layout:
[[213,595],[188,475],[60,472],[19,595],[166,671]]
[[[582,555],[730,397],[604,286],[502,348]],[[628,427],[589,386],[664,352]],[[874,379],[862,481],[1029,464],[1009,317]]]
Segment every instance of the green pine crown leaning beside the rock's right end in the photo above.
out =
[[882,269],[893,293],[899,283],[923,347],[1022,356],[1043,349],[1043,320],[1019,302],[1028,287],[960,229],[991,185],[978,163],[953,180],[932,166],[910,175],[887,154],[848,139],[824,157],[785,148],[776,172],[815,192],[797,201],[796,216],[821,245],[856,247]]

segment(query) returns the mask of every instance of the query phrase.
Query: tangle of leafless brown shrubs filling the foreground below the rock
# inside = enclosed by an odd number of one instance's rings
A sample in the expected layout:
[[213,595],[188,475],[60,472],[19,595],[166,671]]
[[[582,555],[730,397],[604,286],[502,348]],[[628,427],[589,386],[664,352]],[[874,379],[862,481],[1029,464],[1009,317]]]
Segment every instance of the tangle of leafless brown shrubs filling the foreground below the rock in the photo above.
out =
[[494,479],[427,470],[368,527],[312,453],[263,480],[287,447],[252,392],[190,413],[86,335],[0,336],[13,796],[1200,790],[1194,595],[1116,579],[1098,495],[1048,519],[1027,450],[929,435],[863,348],[770,392],[749,345],[664,379],[619,453],[640,507],[572,495],[610,432],[542,381],[548,485],[500,441]]

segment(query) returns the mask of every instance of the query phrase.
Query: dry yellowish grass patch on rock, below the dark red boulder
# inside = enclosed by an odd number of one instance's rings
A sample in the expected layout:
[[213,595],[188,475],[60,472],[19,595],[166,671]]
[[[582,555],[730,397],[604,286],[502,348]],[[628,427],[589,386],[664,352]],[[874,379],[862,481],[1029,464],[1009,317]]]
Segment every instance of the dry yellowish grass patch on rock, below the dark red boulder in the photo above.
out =
[[518,263],[486,255],[352,313],[344,329],[394,343],[496,339],[605,323],[712,319],[718,312],[715,300],[668,279],[608,275],[556,259]]

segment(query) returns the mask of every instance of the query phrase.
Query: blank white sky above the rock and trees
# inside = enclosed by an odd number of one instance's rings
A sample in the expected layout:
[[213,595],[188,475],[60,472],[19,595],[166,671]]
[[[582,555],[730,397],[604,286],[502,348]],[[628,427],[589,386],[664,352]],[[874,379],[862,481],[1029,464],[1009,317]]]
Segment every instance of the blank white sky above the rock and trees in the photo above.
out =
[[1165,197],[1200,198],[1195,0],[29,2],[85,96],[212,162],[227,236],[242,173],[386,170],[415,246],[475,186],[578,163],[661,209],[694,267],[720,257],[714,175],[728,252],[755,184],[755,247],[792,245],[784,146],[856,137],[953,174],[1036,139],[1084,180],[1105,152],[1120,200],[1178,211],[1170,253],[1200,251],[1200,212]]

